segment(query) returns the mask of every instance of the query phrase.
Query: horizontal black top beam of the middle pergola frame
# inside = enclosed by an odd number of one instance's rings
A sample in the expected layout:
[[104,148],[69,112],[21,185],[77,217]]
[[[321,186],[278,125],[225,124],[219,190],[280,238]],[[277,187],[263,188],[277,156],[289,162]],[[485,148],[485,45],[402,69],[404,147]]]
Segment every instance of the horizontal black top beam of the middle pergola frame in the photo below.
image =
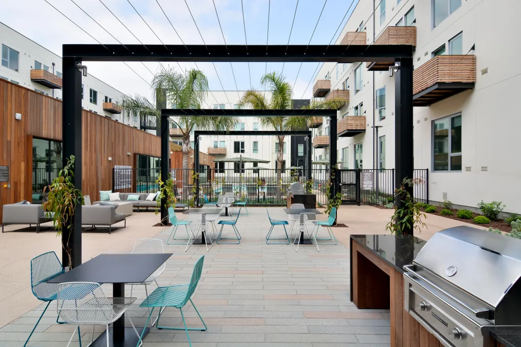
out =
[[182,109],[170,108],[161,110],[161,114],[169,117],[201,116],[201,117],[329,117],[337,115],[331,109],[287,109],[287,110],[253,110],[253,109]]

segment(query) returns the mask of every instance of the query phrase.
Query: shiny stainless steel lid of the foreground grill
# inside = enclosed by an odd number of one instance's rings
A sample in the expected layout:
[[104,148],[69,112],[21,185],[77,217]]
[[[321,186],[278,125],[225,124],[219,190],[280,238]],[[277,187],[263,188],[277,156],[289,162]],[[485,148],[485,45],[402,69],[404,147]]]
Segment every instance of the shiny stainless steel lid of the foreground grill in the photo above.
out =
[[492,307],[521,286],[521,240],[468,226],[436,233],[414,263]]

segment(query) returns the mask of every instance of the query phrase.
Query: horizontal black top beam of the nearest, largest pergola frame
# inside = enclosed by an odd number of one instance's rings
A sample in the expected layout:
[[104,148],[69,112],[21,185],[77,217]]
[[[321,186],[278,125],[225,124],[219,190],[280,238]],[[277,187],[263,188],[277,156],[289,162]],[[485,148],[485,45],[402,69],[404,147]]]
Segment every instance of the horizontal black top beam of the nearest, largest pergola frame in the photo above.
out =
[[412,45],[63,45],[83,61],[354,62],[413,56]]

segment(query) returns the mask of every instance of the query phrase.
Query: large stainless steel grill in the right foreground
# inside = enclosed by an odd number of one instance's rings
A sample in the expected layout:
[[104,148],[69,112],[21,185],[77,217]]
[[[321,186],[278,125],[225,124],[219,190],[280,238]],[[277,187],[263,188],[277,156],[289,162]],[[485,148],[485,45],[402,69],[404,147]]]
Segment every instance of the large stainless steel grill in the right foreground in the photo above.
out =
[[446,347],[493,346],[492,328],[521,326],[521,240],[445,229],[404,268],[405,311]]

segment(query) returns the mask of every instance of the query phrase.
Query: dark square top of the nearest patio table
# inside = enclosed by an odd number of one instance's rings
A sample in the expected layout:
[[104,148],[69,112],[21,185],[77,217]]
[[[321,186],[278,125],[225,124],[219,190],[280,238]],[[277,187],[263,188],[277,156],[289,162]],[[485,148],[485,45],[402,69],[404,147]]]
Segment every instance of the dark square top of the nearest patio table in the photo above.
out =
[[49,283],[138,283],[152,275],[173,253],[100,254]]

